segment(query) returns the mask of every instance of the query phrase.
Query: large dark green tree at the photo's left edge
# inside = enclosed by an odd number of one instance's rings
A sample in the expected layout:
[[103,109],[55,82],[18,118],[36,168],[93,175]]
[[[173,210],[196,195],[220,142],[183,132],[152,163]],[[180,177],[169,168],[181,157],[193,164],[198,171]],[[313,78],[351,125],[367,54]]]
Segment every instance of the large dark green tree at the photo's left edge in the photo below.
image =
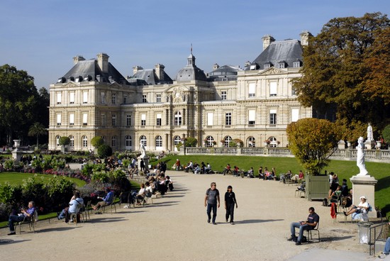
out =
[[37,117],[38,101],[33,77],[10,65],[0,67],[0,128],[6,143],[27,135]]

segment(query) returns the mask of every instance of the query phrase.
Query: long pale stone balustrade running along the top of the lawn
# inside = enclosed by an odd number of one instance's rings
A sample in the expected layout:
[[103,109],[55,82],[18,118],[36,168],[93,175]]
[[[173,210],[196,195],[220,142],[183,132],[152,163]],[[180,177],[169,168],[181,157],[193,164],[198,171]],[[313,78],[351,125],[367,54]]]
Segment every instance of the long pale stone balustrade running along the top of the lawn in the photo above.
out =
[[[390,150],[364,150],[365,160],[390,163]],[[263,157],[294,157],[289,148],[181,148],[180,155],[245,155]],[[333,150],[331,160],[356,160],[357,150]]]

